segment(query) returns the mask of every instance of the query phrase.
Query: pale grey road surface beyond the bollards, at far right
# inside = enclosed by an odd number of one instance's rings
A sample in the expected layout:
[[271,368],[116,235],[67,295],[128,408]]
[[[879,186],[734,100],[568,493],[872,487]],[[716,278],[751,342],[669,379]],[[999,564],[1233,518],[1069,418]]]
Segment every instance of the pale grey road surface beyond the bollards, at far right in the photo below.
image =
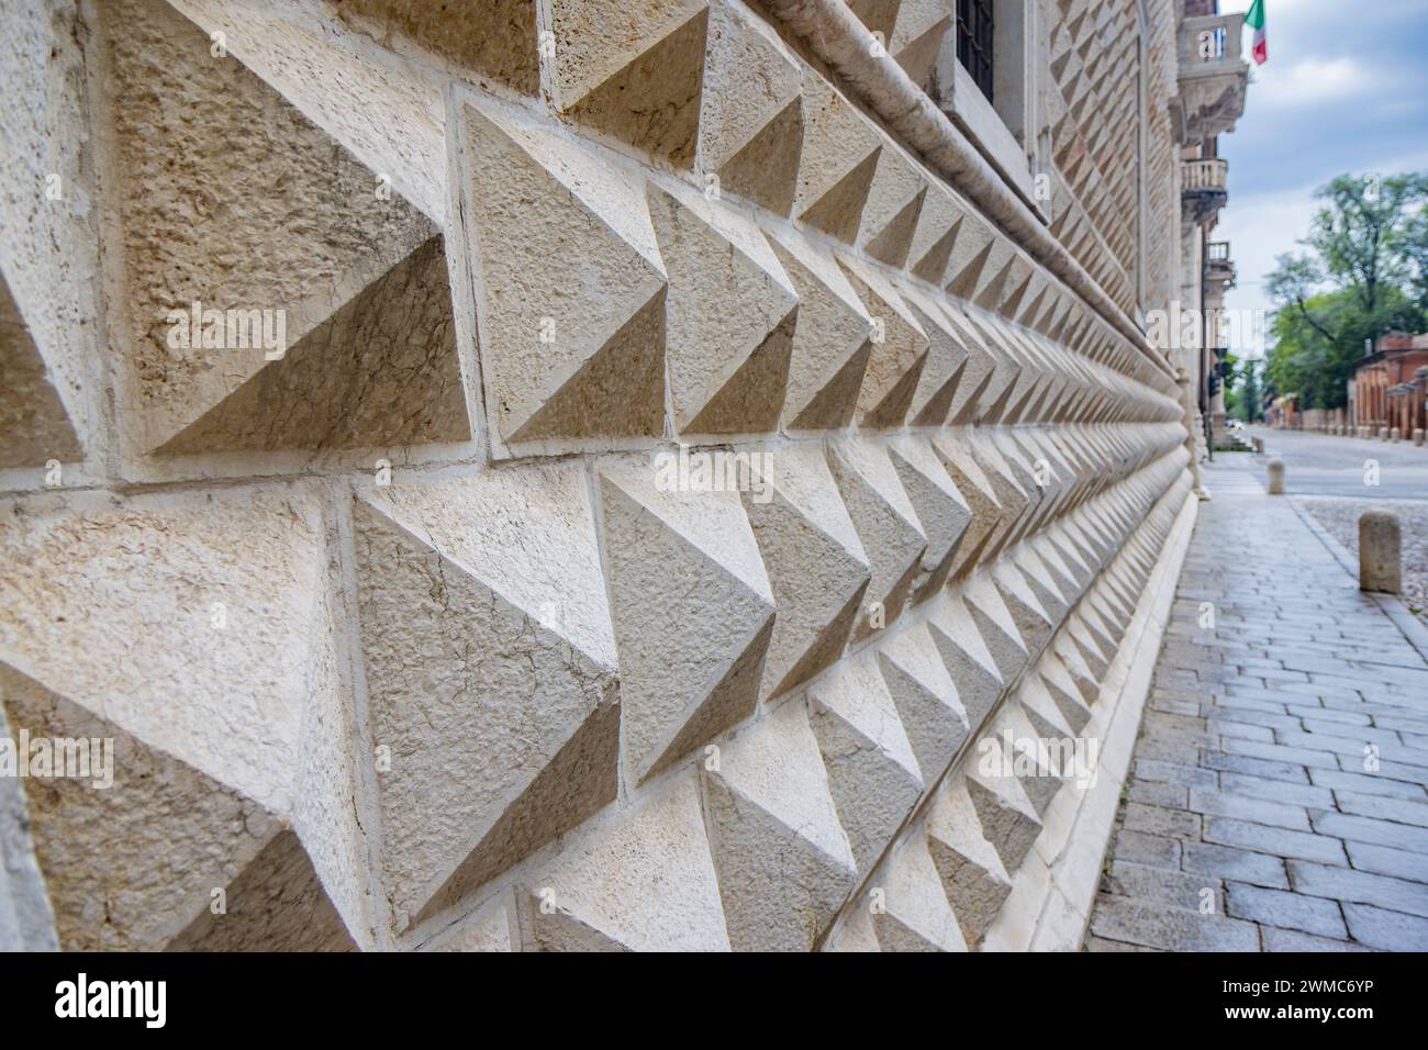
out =
[[[1347,496],[1364,500],[1428,500],[1428,447],[1412,441],[1329,437],[1299,430],[1250,427],[1264,439],[1264,456],[1257,456],[1259,480],[1262,461],[1284,460],[1285,489],[1291,496]],[[1248,453],[1215,453],[1215,459],[1240,459]],[[1378,464],[1378,484],[1369,483],[1369,461]]]

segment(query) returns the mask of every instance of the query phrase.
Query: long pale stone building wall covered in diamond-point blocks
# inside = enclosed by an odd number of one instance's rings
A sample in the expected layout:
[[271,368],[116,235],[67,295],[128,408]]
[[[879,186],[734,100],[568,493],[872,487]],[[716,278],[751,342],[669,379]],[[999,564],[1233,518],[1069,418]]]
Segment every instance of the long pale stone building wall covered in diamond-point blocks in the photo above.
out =
[[945,0],[19,7],[0,737],[113,784],[0,777],[0,947],[1080,943],[1171,0],[1015,6],[998,103]]

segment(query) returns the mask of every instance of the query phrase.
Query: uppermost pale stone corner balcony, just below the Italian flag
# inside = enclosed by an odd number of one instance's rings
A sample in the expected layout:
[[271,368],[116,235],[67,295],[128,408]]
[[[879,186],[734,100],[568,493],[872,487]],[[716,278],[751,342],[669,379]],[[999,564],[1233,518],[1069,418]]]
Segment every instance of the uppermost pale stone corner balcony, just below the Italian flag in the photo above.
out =
[[1250,63],[1241,56],[1242,14],[1211,14],[1180,23],[1180,103],[1185,141],[1232,131],[1245,109]]

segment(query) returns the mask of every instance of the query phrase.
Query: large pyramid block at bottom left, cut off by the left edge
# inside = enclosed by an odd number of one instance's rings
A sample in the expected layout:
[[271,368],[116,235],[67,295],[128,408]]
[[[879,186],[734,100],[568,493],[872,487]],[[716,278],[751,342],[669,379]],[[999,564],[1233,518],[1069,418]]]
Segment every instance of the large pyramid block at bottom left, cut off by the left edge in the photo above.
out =
[[63,947],[370,943],[324,536],[298,486],[7,516],[6,721],[87,744],[23,781]]

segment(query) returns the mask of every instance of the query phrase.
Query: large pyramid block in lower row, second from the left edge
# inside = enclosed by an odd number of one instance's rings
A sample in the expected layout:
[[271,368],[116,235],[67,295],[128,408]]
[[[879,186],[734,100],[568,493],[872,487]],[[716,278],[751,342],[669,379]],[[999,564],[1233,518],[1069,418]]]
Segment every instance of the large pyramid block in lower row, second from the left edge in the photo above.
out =
[[401,480],[353,519],[400,930],[614,799],[614,634],[577,469]]

